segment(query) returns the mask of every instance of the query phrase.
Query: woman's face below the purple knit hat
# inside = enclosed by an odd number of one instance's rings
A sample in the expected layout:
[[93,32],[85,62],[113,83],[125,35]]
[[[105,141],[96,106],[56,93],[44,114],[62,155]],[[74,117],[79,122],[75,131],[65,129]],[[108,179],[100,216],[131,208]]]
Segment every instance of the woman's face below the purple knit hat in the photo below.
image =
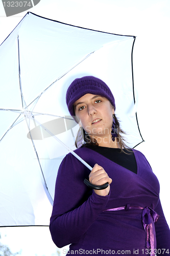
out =
[[74,108],[87,134],[94,138],[111,136],[114,109],[107,98],[88,93],[75,102]]

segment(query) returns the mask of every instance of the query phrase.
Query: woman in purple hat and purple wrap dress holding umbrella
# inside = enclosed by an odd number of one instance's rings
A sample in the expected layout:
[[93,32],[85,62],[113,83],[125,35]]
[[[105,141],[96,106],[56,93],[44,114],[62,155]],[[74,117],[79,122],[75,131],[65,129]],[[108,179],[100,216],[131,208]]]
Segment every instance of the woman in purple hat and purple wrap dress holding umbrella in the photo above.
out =
[[[71,154],[63,159],[50,223],[54,243],[71,244],[68,254],[77,255],[168,255],[159,182],[143,154],[126,148],[106,83],[92,76],[75,79],[66,103],[85,133],[76,153],[94,167],[90,172]],[[109,186],[89,189],[84,179]]]

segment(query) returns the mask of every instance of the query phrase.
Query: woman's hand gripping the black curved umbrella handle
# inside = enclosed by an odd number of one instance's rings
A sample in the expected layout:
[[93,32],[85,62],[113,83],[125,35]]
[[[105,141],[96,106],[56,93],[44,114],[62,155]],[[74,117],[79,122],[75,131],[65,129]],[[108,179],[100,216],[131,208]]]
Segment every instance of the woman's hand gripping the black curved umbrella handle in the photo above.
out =
[[[103,185],[106,182],[109,184],[112,182],[112,179],[109,178],[107,173],[105,172],[104,168],[97,163],[94,165],[94,167],[91,170],[91,173],[89,175],[89,181],[90,183],[94,185]],[[110,185],[103,189],[103,190],[96,190],[94,189],[95,193],[100,195],[100,196],[107,196],[110,191]]]

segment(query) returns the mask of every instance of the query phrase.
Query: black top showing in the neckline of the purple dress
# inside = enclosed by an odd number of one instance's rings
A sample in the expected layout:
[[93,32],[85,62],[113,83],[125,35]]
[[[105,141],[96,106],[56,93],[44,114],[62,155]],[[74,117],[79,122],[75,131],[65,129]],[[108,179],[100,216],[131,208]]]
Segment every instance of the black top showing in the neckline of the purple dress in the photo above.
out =
[[124,152],[121,152],[120,148],[111,148],[103,146],[88,146],[91,150],[100,153],[104,157],[107,157],[111,161],[131,170],[133,173],[137,174],[137,164],[134,153],[132,150],[123,149]]

